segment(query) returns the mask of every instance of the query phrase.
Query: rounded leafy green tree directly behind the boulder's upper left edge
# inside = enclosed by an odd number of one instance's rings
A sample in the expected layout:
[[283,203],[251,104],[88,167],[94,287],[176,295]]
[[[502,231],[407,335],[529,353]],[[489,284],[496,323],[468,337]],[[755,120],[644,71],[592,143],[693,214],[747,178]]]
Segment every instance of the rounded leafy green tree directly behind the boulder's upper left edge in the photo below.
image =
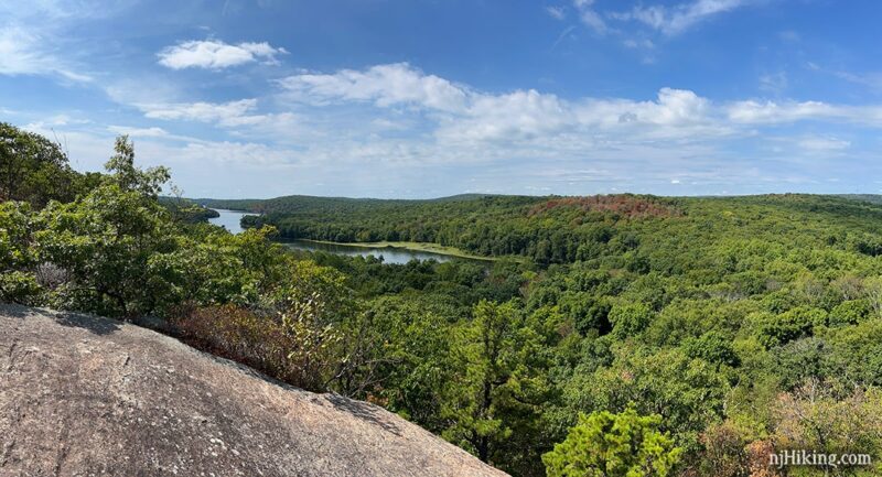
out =
[[155,200],[105,185],[76,202],[50,204],[39,219],[43,258],[69,274],[57,291],[61,305],[136,316],[180,301],[178,241]]

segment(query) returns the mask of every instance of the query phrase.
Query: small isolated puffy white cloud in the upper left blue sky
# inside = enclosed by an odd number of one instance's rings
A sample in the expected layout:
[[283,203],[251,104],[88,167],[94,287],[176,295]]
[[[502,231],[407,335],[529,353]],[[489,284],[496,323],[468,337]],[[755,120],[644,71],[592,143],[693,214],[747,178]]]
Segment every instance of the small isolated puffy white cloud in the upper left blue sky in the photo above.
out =
[[276,57],[287,53],[284,48],[270,46],[267,42],[230,45],[219,40],[194,40],[169,46],[158,56],[161,65],[172,69],[223,69],[257,61],[275,65],[278,64]]

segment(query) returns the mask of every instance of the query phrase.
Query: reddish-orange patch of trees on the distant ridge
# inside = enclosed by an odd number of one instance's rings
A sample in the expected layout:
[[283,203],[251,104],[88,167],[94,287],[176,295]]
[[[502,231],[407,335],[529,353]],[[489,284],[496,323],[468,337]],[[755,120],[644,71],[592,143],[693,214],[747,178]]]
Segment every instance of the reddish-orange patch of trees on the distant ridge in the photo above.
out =
[[674,207],[660,204],[650,198],[633,195],[593,195],[587,197],[552,198],[535,205],[527,215],[533,217],[561,208],[582,212],[615,213],[624,218],[670,217],[681,215],[680,212]]

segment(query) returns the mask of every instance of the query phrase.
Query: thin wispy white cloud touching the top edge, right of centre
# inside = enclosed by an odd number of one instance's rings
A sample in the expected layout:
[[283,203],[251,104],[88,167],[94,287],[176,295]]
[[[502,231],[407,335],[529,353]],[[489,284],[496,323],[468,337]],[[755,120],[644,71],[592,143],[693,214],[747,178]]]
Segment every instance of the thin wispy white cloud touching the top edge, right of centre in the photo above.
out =
[[713,15],[747,4],[750,0],[693,0],[674,7],[636,6],[628,12],[610,17],[623,21],[637,21],[667,35],[676,35]]

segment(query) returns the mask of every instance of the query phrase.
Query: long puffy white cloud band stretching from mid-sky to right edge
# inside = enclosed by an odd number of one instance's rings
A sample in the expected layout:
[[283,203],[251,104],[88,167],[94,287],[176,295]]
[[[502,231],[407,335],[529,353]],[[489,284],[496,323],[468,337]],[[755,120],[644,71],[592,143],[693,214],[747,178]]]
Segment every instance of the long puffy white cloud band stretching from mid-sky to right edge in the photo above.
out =
[[[505,94],[476,91],[407,64],[378,65],[334,74],[304,73],[279,82],[295,101],[321,111],[343,105],[370,105],[386,111],[427,112],[440,142],[707,141],[749,133],[751,127],[805,120],[882,126],[882,109],[824,102],[745,100],[713,102],[691,90],[662,88],[655,100],[562,99],[534,89]],[[401,113],[400,111],[397,113]],[[579,145],[572,145],[579,148]]]

